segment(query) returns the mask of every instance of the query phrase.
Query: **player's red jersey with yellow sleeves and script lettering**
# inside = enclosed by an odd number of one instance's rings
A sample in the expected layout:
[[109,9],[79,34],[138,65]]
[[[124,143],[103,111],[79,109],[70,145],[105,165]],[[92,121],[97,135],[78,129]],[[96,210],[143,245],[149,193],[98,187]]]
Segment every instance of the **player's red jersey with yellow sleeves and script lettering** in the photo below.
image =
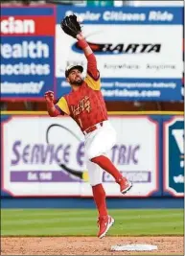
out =
[[90,74],[89,71],[77,91],[72,90],[61,97],[56,105],[61,113],[64,112],[71,116],[82,131],[107,120],[100,77],[94,79]]

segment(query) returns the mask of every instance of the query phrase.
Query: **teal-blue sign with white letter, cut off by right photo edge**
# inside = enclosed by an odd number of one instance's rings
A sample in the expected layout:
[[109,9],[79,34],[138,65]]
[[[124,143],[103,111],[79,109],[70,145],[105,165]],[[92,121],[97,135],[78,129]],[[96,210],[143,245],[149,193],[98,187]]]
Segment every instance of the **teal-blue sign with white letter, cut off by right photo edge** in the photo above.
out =
[[164,122],[164,191],[184,195],[184,120],[173,117]]

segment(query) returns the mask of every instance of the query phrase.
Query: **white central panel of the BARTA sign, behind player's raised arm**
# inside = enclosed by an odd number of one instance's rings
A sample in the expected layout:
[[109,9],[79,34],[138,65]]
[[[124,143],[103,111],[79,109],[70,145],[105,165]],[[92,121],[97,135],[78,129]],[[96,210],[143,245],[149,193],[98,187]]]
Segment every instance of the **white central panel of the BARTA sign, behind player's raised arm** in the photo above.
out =
[[[60,25],[56,33],[57,78],[64,77],[70,63],[80,62],[86,69],[86,58],[77,48],[77,40],[65,35]],[[105,24],[85,24],[83,33],[92,49],[103,47],[100,53],[94,50],[103,79],[182,77],[181,26],[111,25],[110,29]]]

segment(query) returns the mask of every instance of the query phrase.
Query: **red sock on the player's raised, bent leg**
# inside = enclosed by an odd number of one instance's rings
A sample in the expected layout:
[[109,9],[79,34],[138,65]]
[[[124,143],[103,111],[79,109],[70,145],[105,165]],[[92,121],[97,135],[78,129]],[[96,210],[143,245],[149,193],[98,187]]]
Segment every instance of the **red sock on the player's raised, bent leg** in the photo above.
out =
[[116,169],[116,167],[110,161],[110,159],[108,159],[106,156],[96,156],[92,158],[91,161],[95,164],[98,164],[102,169],[104,169],[104,171],[112,175],[116,181],[123,177],[118,171],[118,169]]

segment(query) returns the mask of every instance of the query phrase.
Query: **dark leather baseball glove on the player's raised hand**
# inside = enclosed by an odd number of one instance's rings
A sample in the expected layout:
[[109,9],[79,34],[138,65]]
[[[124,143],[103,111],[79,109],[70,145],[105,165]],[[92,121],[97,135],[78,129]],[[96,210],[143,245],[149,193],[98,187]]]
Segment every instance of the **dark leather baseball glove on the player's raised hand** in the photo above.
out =
[[81,25],[77,21],[75,14],[66,16],[60,23],[61,29],[67,35],[71,35],[74,38],[81,33]]

